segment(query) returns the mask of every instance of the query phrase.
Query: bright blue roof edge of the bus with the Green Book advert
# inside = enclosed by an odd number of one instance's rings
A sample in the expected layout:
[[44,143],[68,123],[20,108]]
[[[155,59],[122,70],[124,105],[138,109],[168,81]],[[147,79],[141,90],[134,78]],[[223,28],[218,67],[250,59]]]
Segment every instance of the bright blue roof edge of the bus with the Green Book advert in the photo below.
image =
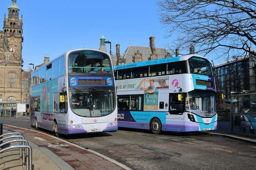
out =
[[114,69],[119,70],[119,69],[125,69],[125,68],[142,67],[146,65],[155,65],[155,64],[162,64],[162,63],[169,63],[169,62],[184,61],[191,57],[201,57],[208,60],[207,58],[197,54],[189,54],[189,55],[178,56],[178,57],[162,58],[162,59],[152,60],[152,61],[143,61],[143,62],[137,62],[137,63],[131,63],[131,64],[117,65],[114,67]]

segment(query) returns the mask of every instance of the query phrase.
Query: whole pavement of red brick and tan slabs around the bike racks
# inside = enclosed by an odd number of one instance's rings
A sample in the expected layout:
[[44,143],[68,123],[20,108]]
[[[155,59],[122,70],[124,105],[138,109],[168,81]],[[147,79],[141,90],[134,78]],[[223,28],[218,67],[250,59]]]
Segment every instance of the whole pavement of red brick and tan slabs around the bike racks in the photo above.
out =
[[[33,150],[34,169],[123,169],[94,153],[44,133],[4,125],[4,133],[20,132]],[[0,169],[26,169],[19,150],[0,154]],[[127,168],[126,168],[127,169]]]

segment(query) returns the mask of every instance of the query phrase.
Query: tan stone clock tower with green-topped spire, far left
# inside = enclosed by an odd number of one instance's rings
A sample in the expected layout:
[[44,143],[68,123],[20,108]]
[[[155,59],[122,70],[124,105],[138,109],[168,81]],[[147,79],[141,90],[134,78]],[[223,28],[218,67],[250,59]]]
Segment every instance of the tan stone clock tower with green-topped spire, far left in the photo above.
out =
[[[0,31],[0,102],[29,103],[30,72],[22,69],[23,21],[12,0]],[[13,105],[14,106],[14,105]]]

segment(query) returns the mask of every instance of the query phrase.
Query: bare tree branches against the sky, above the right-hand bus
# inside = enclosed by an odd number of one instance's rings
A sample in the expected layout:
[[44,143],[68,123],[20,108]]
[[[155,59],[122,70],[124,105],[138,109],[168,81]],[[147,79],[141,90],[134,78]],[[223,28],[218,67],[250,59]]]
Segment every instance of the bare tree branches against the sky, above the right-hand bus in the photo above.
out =
[[196,45],[204,55],[245,56],[256,45],[255,1],[159,0],[167,37],[178,36],[177,46]]

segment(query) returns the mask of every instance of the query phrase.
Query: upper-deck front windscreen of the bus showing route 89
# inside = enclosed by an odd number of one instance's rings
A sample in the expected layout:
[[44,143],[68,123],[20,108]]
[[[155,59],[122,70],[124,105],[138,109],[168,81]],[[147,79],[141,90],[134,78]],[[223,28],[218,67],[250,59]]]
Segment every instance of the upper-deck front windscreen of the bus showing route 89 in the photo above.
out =
[[108,55],[96,51],[73,52],[68,57],[69,73],[112,73]]

